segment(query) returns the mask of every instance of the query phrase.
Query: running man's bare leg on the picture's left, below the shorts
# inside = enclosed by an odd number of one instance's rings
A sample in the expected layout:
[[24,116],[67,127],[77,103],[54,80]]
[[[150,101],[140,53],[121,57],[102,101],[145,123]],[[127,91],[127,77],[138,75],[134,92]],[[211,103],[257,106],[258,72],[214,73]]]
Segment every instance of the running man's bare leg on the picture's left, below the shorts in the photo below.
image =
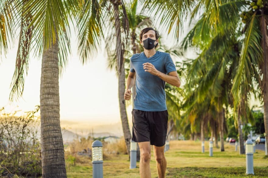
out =
[[141,178],[150,178],[150,160],[151,160],[151,146],[150,142],[139,142],[140,161],[139,174]]

